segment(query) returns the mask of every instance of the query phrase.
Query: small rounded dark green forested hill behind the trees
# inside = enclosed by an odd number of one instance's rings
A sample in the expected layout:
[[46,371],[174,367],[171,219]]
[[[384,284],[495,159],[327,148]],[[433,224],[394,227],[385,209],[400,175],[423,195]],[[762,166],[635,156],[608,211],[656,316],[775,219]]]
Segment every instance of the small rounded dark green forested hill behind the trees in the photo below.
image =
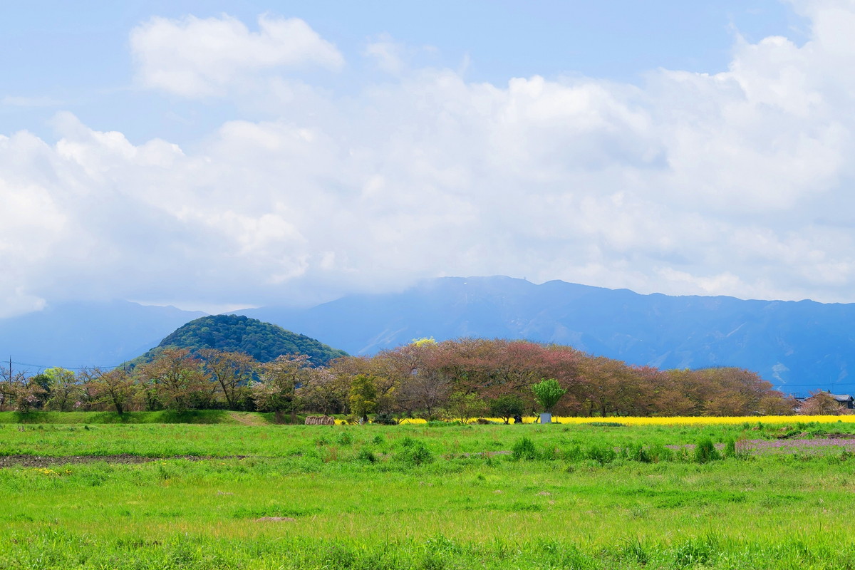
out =
[[285,354],[305,354],[315,366],[347,354],[281,326],[236,314],[215,314],[191,320],[135,361],[150,361],[167,347],[240,351],[261,362]]

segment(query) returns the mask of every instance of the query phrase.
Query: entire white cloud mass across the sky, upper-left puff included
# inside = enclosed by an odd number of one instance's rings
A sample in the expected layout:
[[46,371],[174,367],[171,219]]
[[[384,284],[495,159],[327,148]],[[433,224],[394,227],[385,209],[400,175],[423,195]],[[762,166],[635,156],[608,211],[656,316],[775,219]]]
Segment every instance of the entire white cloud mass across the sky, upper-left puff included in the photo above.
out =
[[[410,69],[348,97],[276,80],[231,90],[250,64],[340,65],[302,22],[300,45],[315,47],[295,51],[270,19],[260,32],[228,17],[150,21],[134,31],[136,56],[177,55],[139,60],[147,85],[255,97],[268,119],[236,116],[192,150],[68,114],[55,143],[0,138],[0,198],[18,213],[0,226],[15,267],[0,305],[309,303],[495,273],[853,302],[855,82],[840,69],[855,40],[834,22],[855,8],[799,9],[809,41],[739,39],[722,73],[493,85]],[[280,40],[302,55],[258,55]]]

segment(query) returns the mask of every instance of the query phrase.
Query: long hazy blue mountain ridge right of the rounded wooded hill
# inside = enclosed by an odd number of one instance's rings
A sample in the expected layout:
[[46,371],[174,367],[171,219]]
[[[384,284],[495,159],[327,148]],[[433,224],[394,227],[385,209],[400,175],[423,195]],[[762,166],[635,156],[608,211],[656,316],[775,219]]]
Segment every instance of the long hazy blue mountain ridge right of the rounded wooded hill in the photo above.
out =
[[787,391],[855,391],[855,305],[639,295],[563,281],[445,278],[312,309],[241,311],[351,354],[433,336],[528,338],[658,367],[739,366]]

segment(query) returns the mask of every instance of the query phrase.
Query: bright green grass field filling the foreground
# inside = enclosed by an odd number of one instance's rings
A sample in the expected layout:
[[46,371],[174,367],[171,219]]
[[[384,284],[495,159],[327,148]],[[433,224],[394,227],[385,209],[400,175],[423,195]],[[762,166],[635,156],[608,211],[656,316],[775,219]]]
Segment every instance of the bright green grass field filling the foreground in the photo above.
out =
[[0,568],[852,568],[845,442],[683,447],[828,433],[8,423]]

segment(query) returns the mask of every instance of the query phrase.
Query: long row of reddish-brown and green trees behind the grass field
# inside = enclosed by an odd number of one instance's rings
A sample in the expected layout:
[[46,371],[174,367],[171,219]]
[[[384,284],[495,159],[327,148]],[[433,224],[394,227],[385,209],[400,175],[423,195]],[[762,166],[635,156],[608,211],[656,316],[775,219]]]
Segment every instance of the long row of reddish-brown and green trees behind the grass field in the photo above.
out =
[[505,421],[534,411],[532,387],[555,380],[553,411],[576,416],[792,414],[794,402],[735,367],[660,370],[522,340],[421,339],[375,356],[312,366],[309,356],[259,362],[242,352],[166,348],[133,368],[54,367],[0,376],[0,409],[231,409]]

